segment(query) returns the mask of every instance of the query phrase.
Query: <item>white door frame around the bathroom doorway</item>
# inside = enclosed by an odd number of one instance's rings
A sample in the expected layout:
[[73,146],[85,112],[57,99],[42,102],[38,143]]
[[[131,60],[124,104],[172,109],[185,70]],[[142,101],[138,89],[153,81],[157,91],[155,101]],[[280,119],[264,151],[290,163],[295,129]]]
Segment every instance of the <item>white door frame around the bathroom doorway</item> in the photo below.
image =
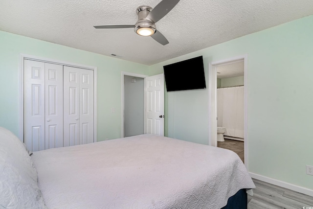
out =
[[[217,71],[218,66],[225,65],[226,63],[235,63],[244,59],[244,147],[245,147],[245,165],[248,168],[248,54],[231,57],[228,59],[211,62],[208,66],[208,83],[209,83],[209,139],[208,144],[211,146],[217,146]],[[215,134],[214,134],[215,133]]]

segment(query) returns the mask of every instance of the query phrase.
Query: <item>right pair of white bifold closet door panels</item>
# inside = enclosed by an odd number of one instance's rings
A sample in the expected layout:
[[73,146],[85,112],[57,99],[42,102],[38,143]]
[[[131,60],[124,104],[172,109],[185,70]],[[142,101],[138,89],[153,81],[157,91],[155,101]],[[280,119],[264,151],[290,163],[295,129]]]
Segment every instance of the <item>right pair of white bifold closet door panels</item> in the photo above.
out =
[[64,66],[64,146],[93,142],[93,70]]

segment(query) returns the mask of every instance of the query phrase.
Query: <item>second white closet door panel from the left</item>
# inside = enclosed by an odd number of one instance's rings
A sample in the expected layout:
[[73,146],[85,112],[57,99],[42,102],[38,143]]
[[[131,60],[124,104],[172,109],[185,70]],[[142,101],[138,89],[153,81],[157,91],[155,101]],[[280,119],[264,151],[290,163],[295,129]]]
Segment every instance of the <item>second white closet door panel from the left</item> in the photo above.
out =
[[63,147],[63,66],[45,63],[45,149]]

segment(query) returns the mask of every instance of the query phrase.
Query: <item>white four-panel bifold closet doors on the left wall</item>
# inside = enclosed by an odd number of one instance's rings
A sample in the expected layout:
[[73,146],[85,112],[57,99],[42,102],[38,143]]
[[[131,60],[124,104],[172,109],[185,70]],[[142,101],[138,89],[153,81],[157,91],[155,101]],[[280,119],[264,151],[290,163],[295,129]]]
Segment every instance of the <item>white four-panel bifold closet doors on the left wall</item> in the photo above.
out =
[[29,150],[93,142],[93,70],[24,59],[23,74]]

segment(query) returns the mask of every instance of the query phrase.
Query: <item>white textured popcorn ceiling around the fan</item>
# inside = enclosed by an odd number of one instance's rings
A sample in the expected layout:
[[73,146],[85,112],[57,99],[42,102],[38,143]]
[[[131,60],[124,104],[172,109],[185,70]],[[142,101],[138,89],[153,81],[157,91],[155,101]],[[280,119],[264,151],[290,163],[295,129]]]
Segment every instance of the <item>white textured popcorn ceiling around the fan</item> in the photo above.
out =
[[136,8],[160,0],[0,0],[0,30],[146,65],[313,14],[313,0],[180,0],[156,28],[162,46],[133,28]]

